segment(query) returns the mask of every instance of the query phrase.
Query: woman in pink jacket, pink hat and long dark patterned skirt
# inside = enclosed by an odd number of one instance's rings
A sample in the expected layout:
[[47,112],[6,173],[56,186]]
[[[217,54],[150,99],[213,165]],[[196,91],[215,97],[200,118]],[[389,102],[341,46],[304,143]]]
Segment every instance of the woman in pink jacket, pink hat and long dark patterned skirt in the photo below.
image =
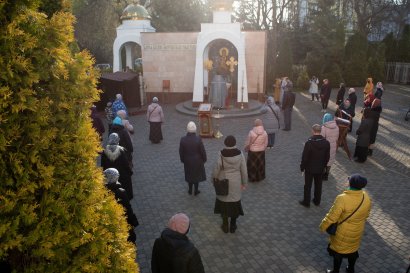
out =
[[248,152],[246,166],[249,182],[259,182],[265,179],[265,150],[268,146],[268,134],[262,120],[256,119],[254,127],[249,131],[245,141],[245,151]]

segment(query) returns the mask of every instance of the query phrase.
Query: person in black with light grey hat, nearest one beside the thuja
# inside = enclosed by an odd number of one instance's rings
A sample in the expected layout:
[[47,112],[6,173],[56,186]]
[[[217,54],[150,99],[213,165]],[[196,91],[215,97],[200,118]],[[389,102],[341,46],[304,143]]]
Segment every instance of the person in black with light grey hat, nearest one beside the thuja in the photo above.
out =
[[104,171],[105,176],[105,186],[108,190],[114,193],[115,200],[118,204],[122,205],[125,211],[125,216],[127,217],[127,223],[129,225],[128,241],[135,244],[137,236],[134,232],[134,227],[138,226],[138,219],[132,210],[130,200],[123,189],[121,183],[118,181],[120,178],[120,173],[115,168],[108,168]]

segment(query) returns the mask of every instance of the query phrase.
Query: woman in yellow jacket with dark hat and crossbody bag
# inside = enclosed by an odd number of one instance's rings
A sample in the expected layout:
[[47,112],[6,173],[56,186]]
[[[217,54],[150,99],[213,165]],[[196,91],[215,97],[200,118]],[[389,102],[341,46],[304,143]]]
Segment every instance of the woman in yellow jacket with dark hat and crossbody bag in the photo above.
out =
[[371,207],[369,195],[362,190],[366,185],[365,177],[358,174],[349,177],[349,187],[336,197],[319,226],[325,232],[331,224],[340,223],[351,215],[338,225],[335,235],[330,235],[327,250],[333,256],[333,270],[328,269],[327,273],[338,273],[343,258],[347,258],[349,262],[346,272],[354,273],[354,264],[359,257],[358,249]]

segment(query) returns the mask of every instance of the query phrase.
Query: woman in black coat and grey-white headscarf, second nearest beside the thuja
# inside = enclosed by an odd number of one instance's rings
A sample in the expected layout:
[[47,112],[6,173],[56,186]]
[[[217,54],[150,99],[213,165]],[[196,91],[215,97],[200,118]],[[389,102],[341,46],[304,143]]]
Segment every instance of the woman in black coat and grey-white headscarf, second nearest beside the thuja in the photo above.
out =
[[112,133],[108,137],[107,146],[101,154],[101,167],[103,170],[115,168],[120,173],[120,183],[127,192],[129,199],[133,197],[132,191],[132,170],[128,163],[127,154],[124,147],[120,146],[120,138],[118,134]]

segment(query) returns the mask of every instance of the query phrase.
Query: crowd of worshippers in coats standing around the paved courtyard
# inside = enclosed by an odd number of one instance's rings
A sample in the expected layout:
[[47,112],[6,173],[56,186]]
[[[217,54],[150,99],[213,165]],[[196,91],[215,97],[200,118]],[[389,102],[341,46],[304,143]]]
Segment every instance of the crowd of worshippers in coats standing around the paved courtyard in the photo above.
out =
[[[345,84],[340,84],[336,97],[337,109],[332,115],[327,109],[331,92],[329,80],[323,80],[320,94],[318,94],[318,84],[319,80],[313,77],[310,80],[309,93],[312,95],[312,101],[315,98],[319,101],[320,96],[321,111],[324,115],[321,124],[312,126],[312,135],[304,145],[300,163],[305,184],[303,199],[299,203],[306,208],[310,207],[311,202],[315,206],[320,205],[322,182],[329,179],[336,151],[340,145],[340,126],[347,127],[348,131],[352,132],[353,118],[356,116],[357,96],[354,88],[348,90],[348,96],[345,98]],[[292,110],[296,99],[292,91],[293,84],[285,77],[277,80],[274,87],[274,96],[267,97],[260,109],[260,118],[254,120],[243,146],[237,146],[236,138],[229,135],[224,140],[224,148],[217,155],[210,180],[214,185],[222,180],[226,180],[228,184],[226,193],[216,191],[214,205],[214,213],[222,218],[221,230],[224,233],[235,233],[238,228],[237,219],[244,215],[241,195],[247,183],[265,180],[265,152],[272,149],[278,141],[278,131],[291,130]],[[363,91],[361,122],[356,130],[354,152],[356,162],[365,162],[367,156],[372,155],[382,111],[383,92],[383,85],[379,82],[376,85],[376,92],[373,93],[372,79],[367,79]],[[93,108],[92,116],[95,116],[95,111],[96,109]],[[107,104],[105,114],[109,137],[101,154],[101,166],[104,169],[107,188],[124,206],[130,225],[129,240],[134,242],[133,227],[138,225],[130,205],[130,200],[133,198],[131,180],[133,147],[130,135],[134,133],[134,129],[128,120],[128,111],[120,94],[116,95],[113,103]],[[164,122],[164,113],[158,98],[154,97],[148,106],[146,118],[150,124],[149,140],[153,144],[160,143],[163,139],[161,124]],[[102,135],[104,131],[98,130],[98,123],[98,121],[94,123],[93,118],[94,127]],[[197,135],[195,122],[190,121],[186,131],[186,135],[180,139],[180,161],[184,165],[188,194],[197,196],[200,193],[199,183],[207,180],[204,167],[207,154],[201,137]],[[364,224],[371,207],[370,197],[363,190],[366,184],[367,179],[359,174],[347,178],[346,190],[336,197],[332,208],[320,224],[320,230],[325,232],[333,226],[332,224],[339,223],[337,231],[329,237],[327,251],[333,256],[334,264],[333,269],[327,272],[339,272],[343,258],[348,259],[347,272],[354,272]],[[312,186],[314,186],[313,199],[311,198]],[[352,224],[353,222],[355,224]],[[176,214],[169,220],[168,226],[153,247],[151,261],[153,273],[204,272],[199,251],[187,237],[189,229],[189,218],[183,213]],[[173,271],[169,271],[170,268]]]

